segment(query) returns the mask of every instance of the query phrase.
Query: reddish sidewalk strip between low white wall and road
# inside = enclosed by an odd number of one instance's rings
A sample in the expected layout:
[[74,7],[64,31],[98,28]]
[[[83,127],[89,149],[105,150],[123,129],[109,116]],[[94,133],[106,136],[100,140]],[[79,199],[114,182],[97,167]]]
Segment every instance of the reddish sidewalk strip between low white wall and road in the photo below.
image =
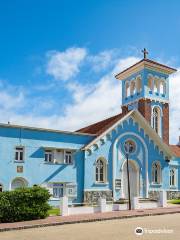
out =
[[156,208],[156,209],[154,208],[154,209],[142,209],[142,210],[139,209],[139,210],[131,210],[131,211],[126,210],[126,211],[116,211],[116,212],[107,212],[107,213],[81,214],[81,215],[73,215],[73,216],[66,216],[66,217],[54,216],[54,217],[48,217],[46,219],[33,220],[33,221],[1,223],[0,232],[27,229],[27,228],[73,224],[73,223],[95,222],[95,221],[104,221],[104,220],[112,220],[112,219],[123,219],[123,218],[175,214],[175,213],[180,213],[180,207],[167,207],[167,208]]

